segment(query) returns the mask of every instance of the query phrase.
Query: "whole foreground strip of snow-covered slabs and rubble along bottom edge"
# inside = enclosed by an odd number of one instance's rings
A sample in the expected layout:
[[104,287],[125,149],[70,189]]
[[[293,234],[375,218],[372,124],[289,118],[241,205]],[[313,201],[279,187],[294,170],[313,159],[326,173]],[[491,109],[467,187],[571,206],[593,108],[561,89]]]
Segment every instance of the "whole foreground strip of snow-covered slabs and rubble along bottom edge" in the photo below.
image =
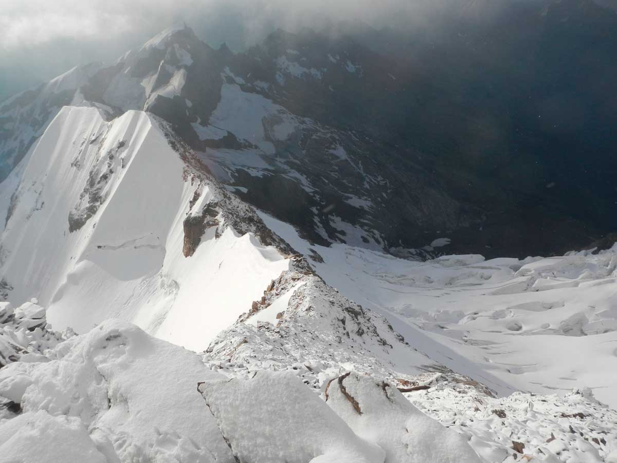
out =
[[617,450],[615,411],[589,391],[495,398],[457,375],[404,388],[307,361],[312,388],[295,365],[238,375],[120,320],[15,360],[0,369],[2,462],[614,463]]

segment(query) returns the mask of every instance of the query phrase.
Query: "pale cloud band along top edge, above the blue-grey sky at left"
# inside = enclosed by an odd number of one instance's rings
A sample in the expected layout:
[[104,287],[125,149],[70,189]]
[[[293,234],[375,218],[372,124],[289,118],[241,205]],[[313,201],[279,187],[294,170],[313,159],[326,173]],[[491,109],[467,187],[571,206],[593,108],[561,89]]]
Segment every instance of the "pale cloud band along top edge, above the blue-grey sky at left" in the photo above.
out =
[[[441,0],[446,1],[446,0]],[[453,0],[450,0],[453,1]],[[458,0],[471,1],[478,0]],[[487,0],[482,0],[487,1]],[[271,27],[298,28],[324,19],[352,20],[379,27],[393,20],[409,23],[436,0],[28,0],[0,9],[0,49],[39,46],[55,40],[114,40],[149,35],[185,20],[206,35],[231,25],[249,42]],[[239,28],[242,30],[239,30]],[[213,37],[212,37],[213,38]],[[233,38],[232,38],[233,39]]]

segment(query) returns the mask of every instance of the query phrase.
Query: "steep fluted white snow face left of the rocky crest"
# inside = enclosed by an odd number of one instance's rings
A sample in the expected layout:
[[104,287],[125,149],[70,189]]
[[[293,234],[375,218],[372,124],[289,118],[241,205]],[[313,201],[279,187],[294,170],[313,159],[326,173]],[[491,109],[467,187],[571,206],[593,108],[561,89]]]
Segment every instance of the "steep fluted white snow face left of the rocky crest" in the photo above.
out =
[[[184,169],[144,112],[108,123],[96,109],[62,109],[5,206],[0,272],[10,299],[39,298],[56,328],[84,332],[119,317],[205,349],[289,263],[231,228],[219,238],[209,230],[184,257],[198,187]],[[200,201],[210,197],[204,188]]]

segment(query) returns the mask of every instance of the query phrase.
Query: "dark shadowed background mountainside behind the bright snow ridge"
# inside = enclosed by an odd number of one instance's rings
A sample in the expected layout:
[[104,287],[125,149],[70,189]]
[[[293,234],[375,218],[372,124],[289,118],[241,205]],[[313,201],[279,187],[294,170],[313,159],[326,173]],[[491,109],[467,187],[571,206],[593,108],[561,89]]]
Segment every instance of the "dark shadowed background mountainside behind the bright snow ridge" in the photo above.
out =
[[[617,229],[617,15],[591,1],[520,3],[453,12],[433,35],[279,30],[240,54],[184,28],[89,69],[80,91],[109,117],[167,120],[235,194],[313,243],[560,254]],[[47,108],[27,122],[41,130],[63,92],[0,106],[0,161],[27,149],[14,141],[22,114]],[[187,220],[185,255],[203,233]],[[436,238],[450,243],[428,246]]]

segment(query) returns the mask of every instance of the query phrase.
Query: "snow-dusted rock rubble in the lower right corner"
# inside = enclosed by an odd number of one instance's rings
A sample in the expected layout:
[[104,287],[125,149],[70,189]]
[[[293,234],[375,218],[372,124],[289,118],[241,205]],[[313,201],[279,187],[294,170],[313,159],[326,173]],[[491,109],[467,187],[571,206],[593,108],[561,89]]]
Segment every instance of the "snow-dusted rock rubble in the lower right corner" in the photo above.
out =
[[[494,398],[443,381],[405,396],[465,436],[484,461],[617,461],[617,412],[598,403],[589,390]],[[523,458],[513,451],[513,442],[523,444]]]

